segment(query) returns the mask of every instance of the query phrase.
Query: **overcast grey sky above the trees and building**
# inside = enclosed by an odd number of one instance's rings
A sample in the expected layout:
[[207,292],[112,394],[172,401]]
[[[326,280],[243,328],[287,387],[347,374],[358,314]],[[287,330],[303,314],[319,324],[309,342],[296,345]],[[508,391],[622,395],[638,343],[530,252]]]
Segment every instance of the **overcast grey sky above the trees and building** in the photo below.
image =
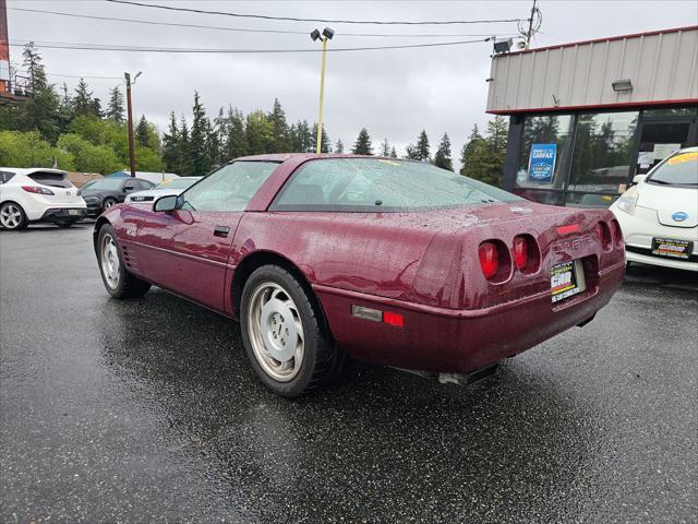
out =
[[[157,1],[174,7],[269,14],[277,16],[351,20],[482,20],[526,19],[531,1],[488,2],[246,2]],[[662,29],[698,23],[696,1],[551,1],[541,0],[543,14],[533,47],[588,38]],[[320,48],[305,34],[245,34],[202,28],[164,27],[125,22],[65,17],[16,11],[51,10],[97,16],[227,27],[312,31],[329,25],[335,29],[333,47],[363,47],[477,39],[480,36],[357,37],[346,33],[513,35],[515,23],[378,26],[279,22],[229,16],[178,13],[158,9],[108,3],[103,0],[8,0],[10,41],[33,39],[44,55],[49,73],[86,76],[122,76],[143,71],[134,87],[134,111],[145,114],[160,130],[169,112],[190,116],[197,90],[209,116],[232,104],[245,114],[268,110],[274,97],[281,102],[289,122],[317,119],[320,53],[286,55],[166,55],[122,51],[89,51],[41,48],[40,43],[88,43],[131,46],[196,48]],[[345,33],[345,34],[342,34]],[[325,126],[334,142],[350,146],[365,127],[377,146],[383,138],[402,154],[424,128],[432,154],[444,132],[452,140],[456,158],[473,123],[486,123],[485,103],[490,72],[490,43],[425,49],[334,52],[327,56]],[[21,48],[11,48],[11,59],[21,60]],[[73,88],[77,79],[50,76]],[[103,102],[118,80],[87,80]]]

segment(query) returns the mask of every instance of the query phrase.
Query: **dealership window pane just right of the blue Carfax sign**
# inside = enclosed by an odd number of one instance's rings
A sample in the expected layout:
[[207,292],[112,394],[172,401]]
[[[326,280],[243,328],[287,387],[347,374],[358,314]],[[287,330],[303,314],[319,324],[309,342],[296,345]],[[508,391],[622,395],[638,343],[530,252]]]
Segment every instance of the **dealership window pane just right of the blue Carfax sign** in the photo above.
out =
[[622,192],[635,155],[638,111],[580,114],[568,189]]

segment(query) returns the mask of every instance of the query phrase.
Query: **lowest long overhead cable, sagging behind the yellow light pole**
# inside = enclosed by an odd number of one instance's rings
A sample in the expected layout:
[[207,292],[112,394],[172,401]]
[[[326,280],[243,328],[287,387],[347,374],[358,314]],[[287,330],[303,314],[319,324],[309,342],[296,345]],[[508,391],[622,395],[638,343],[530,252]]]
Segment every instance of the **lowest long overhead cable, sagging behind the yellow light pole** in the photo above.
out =
[[[414,49],[426,47],[460,46],[465,44],[477,44],[489,41],[491,37],[478,40],[457,41],[434,41],[429,44],[408,44],[401,46],[373,46],[373,47],[334,47],[327,52],[340,51],[373,51],[381,49]],[[26,41],[11,41],[11,46],[25,46]],[[72,43],[40,43],[40,47],[46,49],[74,49],[85,51],[124,51],[124,52],[173,52],[173,53],[239,53],[239,55],[262,55],[262,53],[291,53],[291,52],[322,52],[322,49],[215,49],[195,47],[144,47],[144,46],[112,46],[99,44],[72,44]]]

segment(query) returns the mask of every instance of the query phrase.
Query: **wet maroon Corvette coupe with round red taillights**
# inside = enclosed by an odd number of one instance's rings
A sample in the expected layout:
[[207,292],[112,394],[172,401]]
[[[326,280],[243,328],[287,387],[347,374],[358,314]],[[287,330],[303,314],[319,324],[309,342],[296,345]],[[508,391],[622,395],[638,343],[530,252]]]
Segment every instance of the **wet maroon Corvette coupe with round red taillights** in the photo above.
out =
[[540,205],[434,166],[356,155],[239,158],[95,226],[107,290],[156,285],[240,320],[286,396],[345,356],[468,383],[609,302],[611,212]]

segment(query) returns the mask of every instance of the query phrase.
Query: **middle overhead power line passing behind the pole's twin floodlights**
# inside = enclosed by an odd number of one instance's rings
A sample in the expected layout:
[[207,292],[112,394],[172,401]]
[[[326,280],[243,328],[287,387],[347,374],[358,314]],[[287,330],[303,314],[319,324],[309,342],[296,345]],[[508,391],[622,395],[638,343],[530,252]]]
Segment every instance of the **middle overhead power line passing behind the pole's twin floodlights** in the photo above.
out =
[[[41,9],[25,9],[25,8],[8,8],[9,11],[23,11],[27,13],[45,13],[55,14],[58,16],[70,16],[73,19],[88,19],[88,20],[103,20],[107,22],[128,22],[132,24],[145,24],[145,25],[163,25],[168,27],[190,27],[196,29],[214,29],[214,31],[230,31],[236,33],[266,33],[266,34],[279,34],[279,35],[303,35],[308,36],[306,31],[285,31],[285,29],[251,29],[243,27],[224,27],[216,25],[200,25],[200,24],[182,24],[176,22],[157,22],[153,20],[136,20],[136,19],[120,19],[116,16],[97,16],[88,14],[77,13],[64,13],[60,11],[45,11]],[[461,34],[461,33],[446,33],[446,34],[384,34],[384,33],[341,33],[344,37],[383,37],[383,38],[424,38],[424,37],[472,37],[472,36],[491,36],[490,33],[481,34]]]

